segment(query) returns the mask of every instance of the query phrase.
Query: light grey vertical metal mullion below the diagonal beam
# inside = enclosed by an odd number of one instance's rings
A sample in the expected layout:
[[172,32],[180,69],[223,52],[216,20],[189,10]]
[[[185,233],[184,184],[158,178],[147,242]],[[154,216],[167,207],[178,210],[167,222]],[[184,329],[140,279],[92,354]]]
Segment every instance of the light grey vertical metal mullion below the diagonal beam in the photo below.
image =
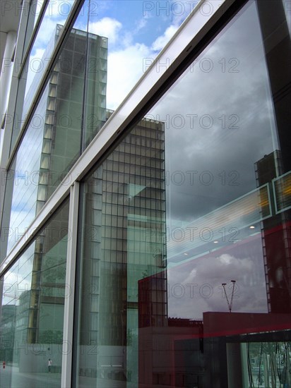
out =
[[70,191],[68,249],[66,255],[66,285],[64,291],[65,302],[63,353],[61,360],[61,387],[71,387],[79,188],[79,183],[75,182],[73,186],[71,186]]

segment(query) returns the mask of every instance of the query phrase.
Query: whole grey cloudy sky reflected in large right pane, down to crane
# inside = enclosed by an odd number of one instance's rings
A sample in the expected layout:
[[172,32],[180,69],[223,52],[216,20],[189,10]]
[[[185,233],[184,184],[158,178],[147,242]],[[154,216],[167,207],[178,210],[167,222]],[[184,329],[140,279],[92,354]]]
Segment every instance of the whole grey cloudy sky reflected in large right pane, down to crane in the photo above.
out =
[[[242,233],[248,222],[244,214],[239,217],[235,200],[257,188],[256,162],[278,149],[271,101],[256,5],[251,3],[149,112],[150,119],[165,122],[167,230],[191,223],[213,232],[212,247],[199,238],[192,243],[189,238],[186,246],[170,233],[170,317],[201,319],[205,311],[227,311],[220,286],[231,279],[239,286],[234,311],[267,311],[261,234]],[[237,219],[230,226],[242,241],[225,241],[221,248],[218,236],[223,227],[228,230],[232,201]],[[244,204],[244,210],[252,211],[255,202]],[[196,247],[196,258],[194,243],[201,248],[198,252]]]

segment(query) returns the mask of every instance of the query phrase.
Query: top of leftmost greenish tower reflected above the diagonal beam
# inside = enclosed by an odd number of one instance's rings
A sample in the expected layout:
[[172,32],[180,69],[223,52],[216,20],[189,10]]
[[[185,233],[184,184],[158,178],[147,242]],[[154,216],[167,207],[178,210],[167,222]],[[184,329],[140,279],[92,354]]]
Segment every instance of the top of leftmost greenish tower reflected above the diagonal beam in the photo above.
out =
[[[54,43],[61,30],[62,26],[57,25]],[[78,157],[81,135],[88,145],[105,122],[106,83],[107,38],[73,28],[45,92],[38,208],[52,195],[60,177],[66,175],[68,166]],[[82,128],[85,128],[83,134]]]

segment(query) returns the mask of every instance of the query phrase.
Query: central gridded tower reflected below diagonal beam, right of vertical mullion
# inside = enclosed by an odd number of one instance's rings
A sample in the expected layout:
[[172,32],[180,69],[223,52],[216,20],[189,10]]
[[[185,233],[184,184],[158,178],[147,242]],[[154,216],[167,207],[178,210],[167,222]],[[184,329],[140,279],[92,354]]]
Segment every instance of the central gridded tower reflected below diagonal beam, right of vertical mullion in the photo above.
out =
[[[138,280],[158,278],[166,263],[164,159],[163,123],[143,119],[86,184],[82,255],[90,296],[81,303],[80,341],[98,344],[100,357],[92,365],[81,353],[81,367],[97,368],[103,379],[137,382]],[[162,325],[166,279],[160,287],[152,302]]]

